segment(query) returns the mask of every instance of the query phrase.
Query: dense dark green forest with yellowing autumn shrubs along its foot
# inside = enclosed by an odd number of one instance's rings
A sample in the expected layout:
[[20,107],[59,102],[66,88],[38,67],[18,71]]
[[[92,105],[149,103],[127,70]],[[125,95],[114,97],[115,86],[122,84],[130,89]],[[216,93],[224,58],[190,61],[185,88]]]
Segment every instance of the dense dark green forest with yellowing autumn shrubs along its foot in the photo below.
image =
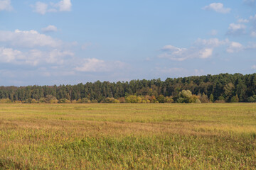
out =
[[60,86],[1,86],[1,103],[255,102],[256,74],[218,74]]

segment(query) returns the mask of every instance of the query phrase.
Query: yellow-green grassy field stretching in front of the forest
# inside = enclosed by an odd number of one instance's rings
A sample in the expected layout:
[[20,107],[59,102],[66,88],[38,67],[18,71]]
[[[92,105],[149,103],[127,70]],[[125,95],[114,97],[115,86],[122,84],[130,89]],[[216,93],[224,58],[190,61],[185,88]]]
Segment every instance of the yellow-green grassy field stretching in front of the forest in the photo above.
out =
[[0,169],[256,169],[256,105],[0,104]]

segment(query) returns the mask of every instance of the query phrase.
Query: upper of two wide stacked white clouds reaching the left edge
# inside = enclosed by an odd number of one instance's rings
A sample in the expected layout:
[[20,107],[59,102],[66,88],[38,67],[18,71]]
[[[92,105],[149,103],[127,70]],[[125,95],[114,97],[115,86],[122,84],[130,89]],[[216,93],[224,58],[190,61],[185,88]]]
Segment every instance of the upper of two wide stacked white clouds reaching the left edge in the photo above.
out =
[[55,40],[48,35],[40,34],[36,30],[0,30],[0,42],[6,42],[20,47],[60,47],[61,40]]

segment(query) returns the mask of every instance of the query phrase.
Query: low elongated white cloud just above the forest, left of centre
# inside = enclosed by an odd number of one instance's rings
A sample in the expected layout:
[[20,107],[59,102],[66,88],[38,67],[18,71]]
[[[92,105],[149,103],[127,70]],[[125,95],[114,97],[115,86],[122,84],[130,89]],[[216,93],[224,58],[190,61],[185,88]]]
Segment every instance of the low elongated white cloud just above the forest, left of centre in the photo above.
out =
[[80,66],[75,67],[78,72],[110,72],[114,69],[122,69],[126,66],[123,62],[105,62],[96,58],[87,58]]

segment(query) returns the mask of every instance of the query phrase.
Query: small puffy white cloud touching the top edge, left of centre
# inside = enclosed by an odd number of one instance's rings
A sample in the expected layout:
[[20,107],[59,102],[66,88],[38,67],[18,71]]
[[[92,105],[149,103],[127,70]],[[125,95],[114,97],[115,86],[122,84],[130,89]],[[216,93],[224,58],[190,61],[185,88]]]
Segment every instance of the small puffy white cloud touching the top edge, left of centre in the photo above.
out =
[[[50,6],[50,8],[49,8]],[[71,11],[71,1],[70,0],[62,0],[58,3],[50,3],[45,4],[41,1],[37,1],[36,5],[31,5],[32,8],[34,8],[34,12],[40,13],[42,15],[46,14],[47,12],[62,12],[62,11]]]

